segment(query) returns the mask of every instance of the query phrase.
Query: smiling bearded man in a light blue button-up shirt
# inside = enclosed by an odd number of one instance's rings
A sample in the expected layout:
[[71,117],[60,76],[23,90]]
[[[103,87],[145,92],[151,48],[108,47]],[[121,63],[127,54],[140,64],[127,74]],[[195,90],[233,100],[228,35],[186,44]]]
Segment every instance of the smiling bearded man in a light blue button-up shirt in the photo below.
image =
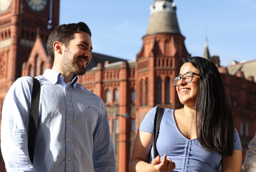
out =
[[88,26],[63,24],[49,36],[53,68],[41,85],[34,162],[28,156],[32,78],[17,79],[4,101],[1,150],[8,171],[116,172],[115,152],[102,99],[77,83],[91,59]]

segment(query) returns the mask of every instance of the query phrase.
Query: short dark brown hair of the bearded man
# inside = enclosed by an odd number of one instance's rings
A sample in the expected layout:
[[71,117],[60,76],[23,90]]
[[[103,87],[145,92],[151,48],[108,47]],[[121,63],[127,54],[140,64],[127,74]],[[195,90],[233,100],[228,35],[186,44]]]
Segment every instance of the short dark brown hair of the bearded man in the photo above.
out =
[[59,26],[56,26],[56,28],[53,29],[47,41],[47,51],[50,57],[52,58],[53,62],[54,62],[53,43],[55,41],[60,41],[61,43],[63,43],[64,46],[67,47],[70,41],[75,38],[74,34],[78,33],[79,31],[84,31],[85,33],[88,33],[91,37],[90,28],[84,22],[61,24]]

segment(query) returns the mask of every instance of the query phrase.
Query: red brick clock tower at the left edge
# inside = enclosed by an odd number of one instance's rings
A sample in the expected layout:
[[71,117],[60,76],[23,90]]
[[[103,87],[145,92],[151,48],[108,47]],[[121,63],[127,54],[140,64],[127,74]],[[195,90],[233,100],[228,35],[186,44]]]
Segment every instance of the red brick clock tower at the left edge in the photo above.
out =
[[46,45],[59,11],[60,0],[0,0],[0,118],[7,91],[21,77],[36,38]]

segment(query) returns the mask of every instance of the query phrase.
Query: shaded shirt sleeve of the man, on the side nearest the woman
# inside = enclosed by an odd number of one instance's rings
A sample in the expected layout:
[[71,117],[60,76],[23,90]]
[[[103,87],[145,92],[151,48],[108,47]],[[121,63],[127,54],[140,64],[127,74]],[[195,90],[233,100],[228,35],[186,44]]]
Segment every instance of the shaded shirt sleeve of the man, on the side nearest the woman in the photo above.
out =
[[105,104],[100,99],[101,112],[93,134],[93,166],[95,172],[117,172],[116,156],[112,143]]

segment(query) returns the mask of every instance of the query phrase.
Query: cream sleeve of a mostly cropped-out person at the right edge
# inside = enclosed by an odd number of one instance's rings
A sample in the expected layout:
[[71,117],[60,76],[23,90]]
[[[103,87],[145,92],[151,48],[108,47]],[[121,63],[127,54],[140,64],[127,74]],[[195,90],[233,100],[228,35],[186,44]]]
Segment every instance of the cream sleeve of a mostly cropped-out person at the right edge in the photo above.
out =
[[256,133],[249,143],[249,150],[246,151],[244,172],[256,172]]

